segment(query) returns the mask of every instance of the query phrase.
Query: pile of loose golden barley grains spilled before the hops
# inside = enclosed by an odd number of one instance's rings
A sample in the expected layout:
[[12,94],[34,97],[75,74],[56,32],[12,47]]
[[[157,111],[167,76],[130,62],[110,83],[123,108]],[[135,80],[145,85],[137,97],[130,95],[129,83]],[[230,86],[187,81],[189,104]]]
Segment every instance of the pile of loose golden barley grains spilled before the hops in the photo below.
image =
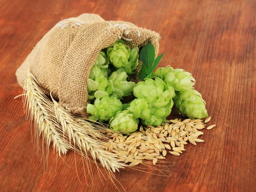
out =
[[[208,117],[204,122],[209,122]],[[105,150],[113,152],[119,156],[119,160],[135,166],[143,160],[152,160],[153,164],[157,160],[165,159],[167,151],[172,155],[179,156],[184,149],[184,145],[204,142],[198,138],[204,133],[199,131],[205,128],[201,119],[180,119],[167,120],[161,126],[140,126],[140,132],[133,132],[130,135],[115,133],[111,129],[102,131],[111,140],[105,144]],[[215,125],[209,126],[212,129]]]

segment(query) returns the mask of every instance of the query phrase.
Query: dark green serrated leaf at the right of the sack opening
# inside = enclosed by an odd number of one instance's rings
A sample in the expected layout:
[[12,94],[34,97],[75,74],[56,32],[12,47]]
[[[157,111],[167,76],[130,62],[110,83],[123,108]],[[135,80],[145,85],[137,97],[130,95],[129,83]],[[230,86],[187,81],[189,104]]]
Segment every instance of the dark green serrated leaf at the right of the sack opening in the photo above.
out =
[[[164,54],[164,53],[163,53]],[[140,73],[138,75],[140,80],[144,80],[145,78],[150,78],[151,73],[156,68],[157,64],[163,57],[163,54],[159,55],[156,59],[155,57],[155,51],[154,46],[151,42],[146,44],[140,51],[140,59],[143,62],[143,65],[141,66]]]

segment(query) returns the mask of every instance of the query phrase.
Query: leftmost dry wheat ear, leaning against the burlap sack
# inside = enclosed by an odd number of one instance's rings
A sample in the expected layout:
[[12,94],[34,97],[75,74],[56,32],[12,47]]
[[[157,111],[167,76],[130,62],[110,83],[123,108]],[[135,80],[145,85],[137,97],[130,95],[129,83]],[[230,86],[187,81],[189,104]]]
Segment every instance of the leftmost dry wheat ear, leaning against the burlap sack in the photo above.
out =
[[[29,72],[25,79],[23,103],[26,107],[27,118],[32,120],[34,118],[35,138],[38,143],[39,137],[42,134],[43,140],[46,142],[47,154],[49,152],[49,145],[52,141],[53,148],[56,149],[59,155],[66,154],[69,146],[58,132],[59,124],[54,121],[51,115],[48,98],[37,85],[37,80]],[[39,84],[39,83],[38,83]]]

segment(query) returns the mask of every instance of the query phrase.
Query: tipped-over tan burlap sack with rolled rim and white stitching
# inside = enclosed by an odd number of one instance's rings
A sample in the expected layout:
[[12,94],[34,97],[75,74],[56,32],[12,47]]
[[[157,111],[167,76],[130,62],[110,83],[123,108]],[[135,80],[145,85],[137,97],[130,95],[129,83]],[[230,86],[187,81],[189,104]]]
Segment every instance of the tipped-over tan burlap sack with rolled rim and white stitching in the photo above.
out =
[[[87,116],[87,79],[99,51],[116,40],[125,39],[139,47],[151,41],[157,55],[159,38],[156,32],[132,23],[105,21],[97,14],[81,14],[60,21],[44,35],[17,69],[17,80],[23,87],[29,66],[46,95],[52,92],[62,106]],[[140,61],[137,73],[141,64]],[[134,81],[137,81],[137,73]]]

